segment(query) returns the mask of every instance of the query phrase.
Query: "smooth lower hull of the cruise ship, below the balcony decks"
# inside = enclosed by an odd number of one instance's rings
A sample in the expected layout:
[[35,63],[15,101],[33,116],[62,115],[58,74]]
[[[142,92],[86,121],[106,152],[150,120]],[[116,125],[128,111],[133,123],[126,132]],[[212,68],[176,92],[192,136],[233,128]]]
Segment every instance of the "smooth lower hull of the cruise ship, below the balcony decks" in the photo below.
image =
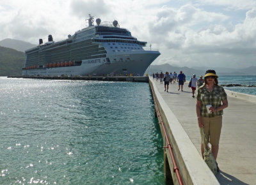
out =
[[[127,56],[129,59],[127,59]],[[124,75],[132,73],[134,76],[143,76],[148,66],[159,56],[159,52],[144,50],[143,52],[120,52],[118,55],[106,58],[82,60],[81,66],[66,66],[56,68],[42,68],[22,70],[22,76],[87,76],[87,75]],[[122,58],[122,60],[120,60]]]

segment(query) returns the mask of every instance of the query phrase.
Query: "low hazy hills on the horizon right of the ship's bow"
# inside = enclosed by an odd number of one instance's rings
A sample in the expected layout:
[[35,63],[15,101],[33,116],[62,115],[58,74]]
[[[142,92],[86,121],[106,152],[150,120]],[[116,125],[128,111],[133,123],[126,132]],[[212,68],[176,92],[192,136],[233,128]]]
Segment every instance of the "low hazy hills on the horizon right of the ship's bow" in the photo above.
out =
[[148,75],[152,73],[161,72],[165,73],[166,71],[180,73],[182,71],[187,76],[192,76],[196,74],[196,76],[204,75],[206,70],[215,70],[218,75],[256,75],[256,66],[251,66],[249,68],[243,69],[232,69],[232,68],[212,68],[209,69],[208,67],[177,67],[171,66],[170,64],[162,64],[162,65],[150,65],[146,71]]

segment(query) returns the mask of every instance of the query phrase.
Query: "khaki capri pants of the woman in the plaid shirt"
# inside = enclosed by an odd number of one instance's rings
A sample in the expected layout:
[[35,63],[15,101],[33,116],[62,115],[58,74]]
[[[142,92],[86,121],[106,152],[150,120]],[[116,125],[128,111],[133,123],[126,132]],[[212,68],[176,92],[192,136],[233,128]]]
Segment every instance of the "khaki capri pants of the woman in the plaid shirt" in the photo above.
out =
[[[220,142],[222,115],[215,117],[202,117],[202,121],[204,123],[204,131],[207,143],[210,142],[211,145],[218,145]],[[200,134],[201,142],[203,143],[202,128],[200,128]]]

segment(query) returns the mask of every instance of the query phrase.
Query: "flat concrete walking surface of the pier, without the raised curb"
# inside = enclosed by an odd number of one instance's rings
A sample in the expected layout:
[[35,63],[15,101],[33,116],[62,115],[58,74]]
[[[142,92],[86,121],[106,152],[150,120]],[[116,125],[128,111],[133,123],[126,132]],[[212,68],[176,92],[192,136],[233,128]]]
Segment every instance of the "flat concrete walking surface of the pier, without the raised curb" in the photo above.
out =
[[[170,84],[168,93],[164,92],[164,84],[153,82],[201,155],[196,98],[192,98],[188,82],[183,92],[178,91],[177,82]],[[220,184],[256,184],[256,102],[228,94],[228,108],[223,112],[217,158],[220,173],[216,177]]]

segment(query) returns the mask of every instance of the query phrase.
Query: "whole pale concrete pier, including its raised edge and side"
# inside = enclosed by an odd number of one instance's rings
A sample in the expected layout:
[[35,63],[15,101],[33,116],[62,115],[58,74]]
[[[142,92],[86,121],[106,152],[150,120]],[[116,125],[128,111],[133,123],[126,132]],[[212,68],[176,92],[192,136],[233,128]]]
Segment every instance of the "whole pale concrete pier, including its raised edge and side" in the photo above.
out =
[[[200,133],[196,118],[196,98],[184,84],[164,84],[150,78],[157,96],[184,184],[255,184],[256,183],[256,96],[226,91],[228,108],[224,110],[218,165],[221,172],[209,174],[200,151]],[[196,150],[196,152],[195,152]],[[166,153],[166,149],[164,149]],[[172,163],[169,161],[170,168]],[[206,166],[207,167],[207,166]],[[172,170],[171,170],[172,172]],[[172,173],[173,175],[173,173]],[[214,180],[215,179],[215,180]],[[175,177],[173,177],[173,182]]]

